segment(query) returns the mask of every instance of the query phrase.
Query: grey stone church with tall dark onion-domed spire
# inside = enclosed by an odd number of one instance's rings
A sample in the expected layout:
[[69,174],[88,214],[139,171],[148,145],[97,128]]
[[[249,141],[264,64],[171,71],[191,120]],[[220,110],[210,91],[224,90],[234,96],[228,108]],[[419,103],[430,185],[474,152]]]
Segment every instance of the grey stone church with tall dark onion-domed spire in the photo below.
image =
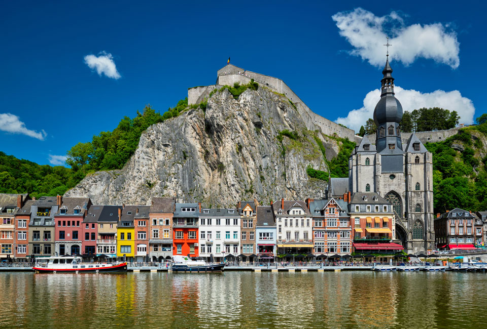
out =
[[435,248],[433,160],[414,134],[402,145],[402,106],[394,96],[387,55],[380,100],[374,109],[375,144],[364,136],[349,158],[349,191],[375,192],[393,205],[395,239],[407,253]]

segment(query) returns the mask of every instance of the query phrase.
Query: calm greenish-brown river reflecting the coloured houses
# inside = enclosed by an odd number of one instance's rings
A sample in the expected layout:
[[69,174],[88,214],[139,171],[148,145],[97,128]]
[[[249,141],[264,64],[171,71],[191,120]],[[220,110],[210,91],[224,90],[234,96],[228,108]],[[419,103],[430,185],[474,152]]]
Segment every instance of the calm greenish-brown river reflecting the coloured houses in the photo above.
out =
[[466,328],[487,274],[0,273],[1,327]]

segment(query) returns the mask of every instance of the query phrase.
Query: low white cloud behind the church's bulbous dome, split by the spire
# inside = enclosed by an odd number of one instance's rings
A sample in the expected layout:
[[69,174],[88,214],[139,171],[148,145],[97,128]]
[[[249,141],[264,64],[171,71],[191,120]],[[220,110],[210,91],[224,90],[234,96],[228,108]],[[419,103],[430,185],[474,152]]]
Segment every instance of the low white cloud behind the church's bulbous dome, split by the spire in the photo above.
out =
[[[460,122],[473,124],[475,107],[472,101],[466,97],[462,97],[462,94],[458,90],[450,92],[436,90],[432,93],[421,93],[416,90],[407,90],[394,86],[394,92],[396,93],[396,98],[401,102],[403,111],[411,112],[422,107],[437,106],[450,111],[457,111],[460,115]],[[363,107],[350,111],[346,117],[339,117],[335,122],[345,125],[358,133],[360,126],[364,126],[368,118],[373,118],[375,105],[377,105],[379,99],[379,89],[368,92],[364,98]]]

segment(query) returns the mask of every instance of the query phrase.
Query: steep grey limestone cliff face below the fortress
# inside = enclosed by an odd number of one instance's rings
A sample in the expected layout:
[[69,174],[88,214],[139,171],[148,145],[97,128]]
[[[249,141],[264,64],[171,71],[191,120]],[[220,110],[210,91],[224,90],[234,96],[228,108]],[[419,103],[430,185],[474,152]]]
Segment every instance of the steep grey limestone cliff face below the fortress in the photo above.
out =
[[[299,138],[280,135],[283,130]],[[65,196],[87,196],[94,204],[150,204],[154,196],[176,196],[206,207],[320,198],[327,183],[306,173],[308,166],[328,171],[316,137],[338,153],[336,143],[305,128],[285,97],[259,88],[235,100],[225,89],[208,99],[206,111],[190,109],[149,127],[122,170],[89,175]]]

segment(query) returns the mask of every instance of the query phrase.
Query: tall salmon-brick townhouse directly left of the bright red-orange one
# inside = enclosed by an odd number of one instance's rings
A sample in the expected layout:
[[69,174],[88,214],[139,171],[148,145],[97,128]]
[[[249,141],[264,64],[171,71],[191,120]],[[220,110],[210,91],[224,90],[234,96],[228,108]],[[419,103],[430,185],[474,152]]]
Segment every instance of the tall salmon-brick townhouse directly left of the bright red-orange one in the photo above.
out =
[[172,215],[176,199],[172,197],[152,198],[149,210],[149,257],[153,262],[170,260],[172,256]]

